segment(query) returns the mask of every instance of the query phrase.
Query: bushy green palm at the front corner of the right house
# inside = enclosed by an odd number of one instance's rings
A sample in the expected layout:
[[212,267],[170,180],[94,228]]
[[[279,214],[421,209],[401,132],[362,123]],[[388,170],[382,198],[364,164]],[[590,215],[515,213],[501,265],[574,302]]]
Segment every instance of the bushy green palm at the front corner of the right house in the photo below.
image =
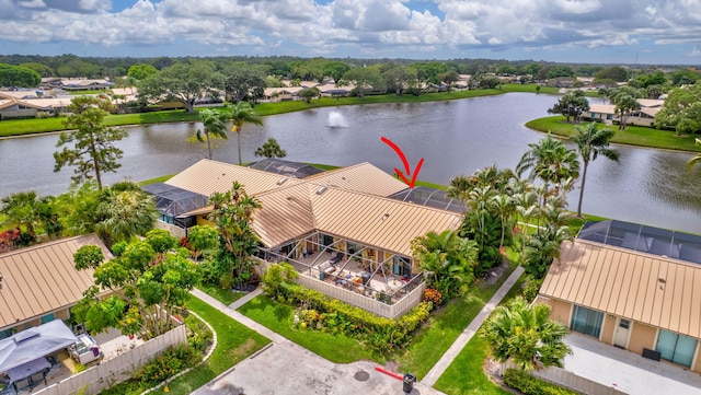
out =
[[572,352],[563,340],[567,328],[549,316],[550,306],[530,305],[519,297],[496,309],[482,336],[499,362],[512,360],[521,370],[562,367],[563,358]]

